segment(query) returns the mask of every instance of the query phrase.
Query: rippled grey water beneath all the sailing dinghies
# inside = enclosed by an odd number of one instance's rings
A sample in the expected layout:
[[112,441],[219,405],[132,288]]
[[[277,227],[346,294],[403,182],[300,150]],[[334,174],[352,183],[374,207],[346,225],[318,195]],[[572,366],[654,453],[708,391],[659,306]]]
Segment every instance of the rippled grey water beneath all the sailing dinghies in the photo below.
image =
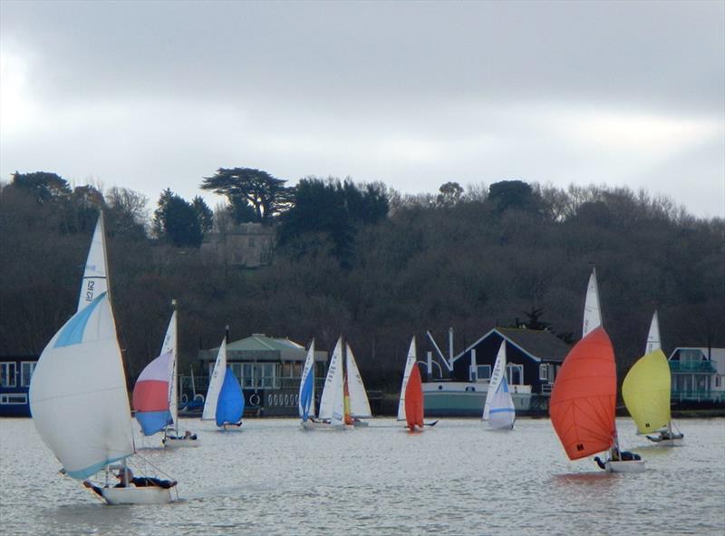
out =
[[[686,446],[659,448],[619,419],[642,474],[570,463],[546,420],[509,433],[444,419],[411,435],[392,419],[304,432],[247,419],[241,431],[184,421],[198,449],[140,440],[179,480],[179,502],[108,507],[59,464],[31,420],[0,420],[0,532],[16,534],[723,534],[725,420],[683,420]],[[143,469],[144,462],[136,465]]]

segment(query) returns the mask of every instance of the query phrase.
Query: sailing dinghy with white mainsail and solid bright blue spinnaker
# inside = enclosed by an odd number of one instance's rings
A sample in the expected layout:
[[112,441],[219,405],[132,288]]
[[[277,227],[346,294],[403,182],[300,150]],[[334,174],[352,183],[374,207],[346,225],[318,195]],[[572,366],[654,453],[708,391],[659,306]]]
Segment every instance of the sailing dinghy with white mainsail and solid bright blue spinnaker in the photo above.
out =
[[207,397],[204,400],[202,421],[215,420],[217,426],[241,426],[244,414],[244,394],[237,376],[227,368],[227,338],[221,342],[214,371],[209,378]]

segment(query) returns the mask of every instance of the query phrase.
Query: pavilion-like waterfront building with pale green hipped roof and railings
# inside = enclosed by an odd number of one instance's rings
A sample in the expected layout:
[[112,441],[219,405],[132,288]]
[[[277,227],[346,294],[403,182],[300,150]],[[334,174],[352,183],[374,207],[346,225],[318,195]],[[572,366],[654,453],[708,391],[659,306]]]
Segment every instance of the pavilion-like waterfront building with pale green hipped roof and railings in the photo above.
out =
[[[219,348],[201,350],[202,370],[211,375]],[[247,414],[294,416],[299,402],[299,385],[307,350],[288,338],[254,334],[227,344],[227,365],[242,385]],[[317,398],[324,385],[327,352],[314,351],[314,379]],[[206,383],[198,381],[200,393]]]

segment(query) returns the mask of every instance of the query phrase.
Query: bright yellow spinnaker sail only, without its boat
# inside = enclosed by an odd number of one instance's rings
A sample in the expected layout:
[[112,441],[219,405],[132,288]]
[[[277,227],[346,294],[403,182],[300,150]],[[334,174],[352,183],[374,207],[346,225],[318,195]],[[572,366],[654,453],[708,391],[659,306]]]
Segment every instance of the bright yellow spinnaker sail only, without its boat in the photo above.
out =
[[640,357],[622,384],[624,404],[637,424],[637,432],[649,434],[670,424],[670,365],[662,350]]

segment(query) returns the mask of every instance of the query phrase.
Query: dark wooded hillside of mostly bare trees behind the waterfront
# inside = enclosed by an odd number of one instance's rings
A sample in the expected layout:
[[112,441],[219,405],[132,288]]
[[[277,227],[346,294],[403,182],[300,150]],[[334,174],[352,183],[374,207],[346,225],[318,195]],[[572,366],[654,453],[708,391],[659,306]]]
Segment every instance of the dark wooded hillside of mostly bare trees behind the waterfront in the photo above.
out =
[[[277,182],[284,210],[256,213],[280,239],[272,264],[249,270],[174,247],[158,232],[169,222],[144,219],[140,194],[34,179],[0,185],[0,355],[40,353],[73,314],[100,206],[131,381],[158,354],[176,298],[186,370],[227,324],[232,339],[315,337],[323,349],[342,333],[368,387],[394,390],[411,335],[422,354],[426,330],[442,345],[453,327],[457,352],[532,320],[578,339],[592,266],[620,375],[643,352],[655,308],[667,354],[725,346],[725,221],[644,193],[512,180],[411,197],[350,180]],[[255,217],[239,200],[234,210]]]

